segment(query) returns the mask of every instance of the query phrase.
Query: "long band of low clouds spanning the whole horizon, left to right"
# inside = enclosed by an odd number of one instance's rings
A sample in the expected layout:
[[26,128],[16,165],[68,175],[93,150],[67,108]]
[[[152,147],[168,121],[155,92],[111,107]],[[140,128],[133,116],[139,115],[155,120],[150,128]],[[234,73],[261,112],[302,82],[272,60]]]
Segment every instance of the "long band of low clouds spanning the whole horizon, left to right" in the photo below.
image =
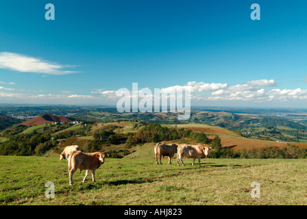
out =
[[[245,83],[239,83],[234,86],[228,86],[227,83],[204,83],[189,81],[184,86],[176,85],[167,88],[160,88],[160,92],[175,92],[177,89],[185,90],[189,88],[191,90],[191,101],[196,101],[197,104],[205,103],[204,101],[249,101],[254,103],[287,103],[287,101],[297,101],[297,103],[305,103],[307,100],[307,90],[302,88],[295,89],[270,89],[269,86],[274,86],[275,81],[273,79],[262,79],[257,81],[247,81]],[[4,88],[0,86],[0,99],[18,99],[23,101],[45,101],[51,103],[116,103],[121,99],[121,96],[116,96],[117,90],[93,90],[91,94],[72,94],[71,91],[61,91],[62,94],[13,94],[4,92],[5,90],[14,90],[12,88]],[[132,90],[126,89],[130,92],[130,98],[134,97]],[[147,92],[147,90],[149,92]],[[30,91],[29,91],[30,92]],[[138,88],[138,97],[143,96],[153,97],[154,89]],[[129,97],[129,96],[127,96]]]

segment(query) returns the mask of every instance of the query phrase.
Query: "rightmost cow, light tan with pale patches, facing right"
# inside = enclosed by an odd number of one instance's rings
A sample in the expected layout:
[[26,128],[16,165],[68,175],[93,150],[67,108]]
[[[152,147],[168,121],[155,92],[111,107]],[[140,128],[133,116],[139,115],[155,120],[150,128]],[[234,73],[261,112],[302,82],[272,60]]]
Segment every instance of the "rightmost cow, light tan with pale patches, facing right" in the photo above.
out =
[[210,149],[212,148],[200,144],[197,145],[180,144],[177,148],[177,165],[180,166],[179,162],[181,160],[182,165],[184,166],[184,161],[182,157],[186,156],[188,158],[193,158],[192,166],[194,166],[195,159],[197,158],[198,164],[200,166],[201,157],[206,156],[207,158]]

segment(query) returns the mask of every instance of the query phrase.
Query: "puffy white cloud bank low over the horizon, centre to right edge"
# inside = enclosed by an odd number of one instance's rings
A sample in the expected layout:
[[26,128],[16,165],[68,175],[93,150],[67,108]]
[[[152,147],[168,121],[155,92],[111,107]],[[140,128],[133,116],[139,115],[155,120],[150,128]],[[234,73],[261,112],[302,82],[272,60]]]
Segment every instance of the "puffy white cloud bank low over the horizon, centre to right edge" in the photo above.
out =
[[[271,101],[273,99],[286,100],[302,100],[307,99],[307,90],[297,89],[273,89],[265,90],[270,86],[276,86],[273,79],[261,79],[255,81],[247,81],[245,83],[228,86],[227,83],[204,83],[196,81],[188,81],[184,86],[170,86],[160,88],[160,92],[175,92],[177,89],[191,90],[191,98],[194,101]],[[130,90],[131,92],[132,90]],[[211,94],[203,92],[212,91]],[[152,94],[154,90],[151,90]],[[116,97],[116,90],[98,89],[92,92],[93,94],[101,94],[101,98],[119,99]],[[138,90],[138,96],[143,96],[142,90]],[[133,96],[130,96],[133,97]]]

